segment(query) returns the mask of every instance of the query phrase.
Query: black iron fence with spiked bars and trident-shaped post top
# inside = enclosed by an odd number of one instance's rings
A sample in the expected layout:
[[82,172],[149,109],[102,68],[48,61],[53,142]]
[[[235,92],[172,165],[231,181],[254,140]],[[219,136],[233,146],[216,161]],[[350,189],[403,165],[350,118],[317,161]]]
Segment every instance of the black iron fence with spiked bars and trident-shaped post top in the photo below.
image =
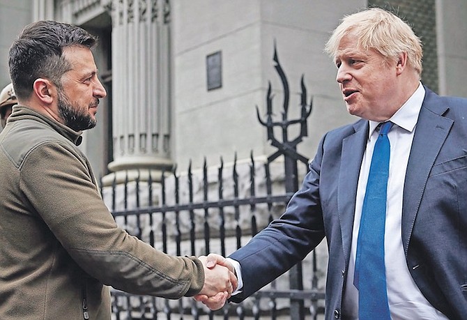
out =
[[[163,173],[155,183],[151,174],[103,188],[102,197],[123,228],[153,247],[172,255],[202,255],[216,252],[226,256],[245,245],[257,232],[278,218],[307,172],[307,158],[296,146],[307,135],[306,89],[301,82],[301,114],[288,119],[289,85],[274,54],[275,69],[284,85],[282,119],[273,121],[271,86],[267,96],[268,139],[277,151],[268,158],[250,156],[224,166]],[[298,135],[289,139],[289,127],[299,125]],[[275,129],[276,128],[276,129]],[[277,130],[278,129],[278,130]],[[281,131],[282,130],[282,131]],[[275,137],[277,131],[280,138]],[[283,158],[282,158],[283,156]],[[284,161],[275,161],[281,158]],[[158,179],[159,180],[159,179]],[[215,312],[192,298],[167,300],[112,291],[114,319],[317,319],[323,314],[326,248],[312,251],[291,271],[277,278],[240,304],[227,304]]]

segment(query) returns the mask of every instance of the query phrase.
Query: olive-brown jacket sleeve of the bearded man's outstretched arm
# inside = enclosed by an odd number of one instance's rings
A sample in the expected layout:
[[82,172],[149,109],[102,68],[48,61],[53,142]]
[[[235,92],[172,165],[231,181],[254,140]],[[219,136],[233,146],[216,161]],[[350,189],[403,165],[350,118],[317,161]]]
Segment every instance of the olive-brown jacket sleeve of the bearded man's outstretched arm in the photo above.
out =
[[20,168],[20,188],[86,273],[132,294],[180,298],[197,294],[204,270],[196,257],[173,257],[119,228],[74,146],[47,142]]

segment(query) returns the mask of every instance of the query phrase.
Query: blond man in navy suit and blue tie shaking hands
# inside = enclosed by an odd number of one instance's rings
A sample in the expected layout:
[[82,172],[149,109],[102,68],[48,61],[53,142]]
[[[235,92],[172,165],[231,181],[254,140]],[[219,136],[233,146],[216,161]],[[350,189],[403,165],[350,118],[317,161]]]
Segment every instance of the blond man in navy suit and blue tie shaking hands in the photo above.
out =
[[344,17],[326,51],[361,119],[324,135],[282,217],[208,266],[236,270],[239,302],[326,238],[326,319],[466,319],[467,99],[420,82],[420,38],[386,10]]

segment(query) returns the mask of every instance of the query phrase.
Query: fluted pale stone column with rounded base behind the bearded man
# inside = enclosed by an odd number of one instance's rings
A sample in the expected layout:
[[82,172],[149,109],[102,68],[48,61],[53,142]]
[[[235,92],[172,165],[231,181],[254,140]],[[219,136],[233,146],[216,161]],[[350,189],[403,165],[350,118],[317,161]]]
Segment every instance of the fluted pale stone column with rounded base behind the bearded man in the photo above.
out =
[[[169,0],[112,0],[112,130],[118,176],[171,169]],[[108,176],[107,178],[111,178]]]

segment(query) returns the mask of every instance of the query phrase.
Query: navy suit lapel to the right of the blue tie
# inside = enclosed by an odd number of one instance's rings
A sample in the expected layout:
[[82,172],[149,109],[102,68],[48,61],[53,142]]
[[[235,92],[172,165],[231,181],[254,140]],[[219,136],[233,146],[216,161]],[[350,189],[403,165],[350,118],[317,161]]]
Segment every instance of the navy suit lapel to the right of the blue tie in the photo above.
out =
[[402,241],[406,254],[429,173],[453,123],[442,116],[447,106],[439,96],[427,88],[425,90],[427,93],[415,127],[404,184]]

